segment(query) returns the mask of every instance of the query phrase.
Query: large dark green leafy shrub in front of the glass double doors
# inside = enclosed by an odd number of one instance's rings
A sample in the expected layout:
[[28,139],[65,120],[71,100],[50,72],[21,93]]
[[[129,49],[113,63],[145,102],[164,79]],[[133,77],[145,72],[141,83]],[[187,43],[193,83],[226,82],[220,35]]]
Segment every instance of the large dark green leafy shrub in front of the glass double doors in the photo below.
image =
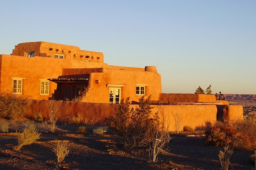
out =
[[115,109],[116,117],[109,118],[108,126],[119,132],[121,141],[126,148],[143,146],[150,139],[151,129],[154,119],[150,118],[151,107],[149,105],[150,96],[139,99],[139,107],[129,108],[129,97],[121,100]]

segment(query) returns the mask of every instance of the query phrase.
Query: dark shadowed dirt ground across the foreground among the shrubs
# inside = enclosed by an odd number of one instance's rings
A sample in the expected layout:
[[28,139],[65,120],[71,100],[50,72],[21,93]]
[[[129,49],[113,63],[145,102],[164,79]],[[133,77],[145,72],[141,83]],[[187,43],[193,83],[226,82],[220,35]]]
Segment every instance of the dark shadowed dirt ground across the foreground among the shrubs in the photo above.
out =
[[[1,119],[0,122],[6,121]],[[220,170],[219,148],[204,145],[203,137],[173,135],[169,143],[169,153],[161,154],[157,164],[148,159],[146,148],[125,150],[113,135],[93,135],[76,132],[79,126],[58,125],[56,133],[49,133],[46,123],[33,121],[9,123],[9,132],[0,133],[1,170]],[[42,131],[37,143],[23,146],[20,151],[13,150],[17,144],[16,131],[34,123]],[[52,151],[54,140],[68,140],[70,152],[64,163],[57,164]],[[249,163],[250,152],[235,150],[231,158],[234,170],[252,170]],[[230,169],[232,169],[230,167]]]

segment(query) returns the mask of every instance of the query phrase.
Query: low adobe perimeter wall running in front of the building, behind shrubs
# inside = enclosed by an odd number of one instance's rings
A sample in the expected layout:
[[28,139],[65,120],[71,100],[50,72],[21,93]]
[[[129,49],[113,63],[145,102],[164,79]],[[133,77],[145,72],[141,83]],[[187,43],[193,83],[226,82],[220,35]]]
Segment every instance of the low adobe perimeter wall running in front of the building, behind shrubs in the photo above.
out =
[[[118,104],[108,103],[32,100],[29,116],[34,117],[35,112],[41,112],[43,117],[48,118],[50,102],[58,102],[59,117],[69,117],[80,113],[83,118],[100,120],[115,116],[115,108],[118,106]],[[130,108],[136,106],[138,105],[131,104]],[[223,117],[224,115],[228,120],[243,117],[243,107],[241,105],[184,104],[151,106],[153,107],[152,115],[159,112],[161,119],[163,119],[163,116],[165,117],[166,123],[169,123],[169,131],[175,131],[176,122],[180,124],[180,130],[183,130],[184,126],[200,129],[204,127],[206,121],[216,121],[217,116]]]

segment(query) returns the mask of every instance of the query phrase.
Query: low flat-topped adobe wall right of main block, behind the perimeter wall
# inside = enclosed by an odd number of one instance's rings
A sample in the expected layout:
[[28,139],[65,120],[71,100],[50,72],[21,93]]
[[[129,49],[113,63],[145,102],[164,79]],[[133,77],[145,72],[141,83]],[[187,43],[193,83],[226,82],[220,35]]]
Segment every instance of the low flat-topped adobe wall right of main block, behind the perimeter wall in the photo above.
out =
[[183,94],[183,93],[162,93],[161,101],[172,102],[216,102],[215,95],[206,94]]

